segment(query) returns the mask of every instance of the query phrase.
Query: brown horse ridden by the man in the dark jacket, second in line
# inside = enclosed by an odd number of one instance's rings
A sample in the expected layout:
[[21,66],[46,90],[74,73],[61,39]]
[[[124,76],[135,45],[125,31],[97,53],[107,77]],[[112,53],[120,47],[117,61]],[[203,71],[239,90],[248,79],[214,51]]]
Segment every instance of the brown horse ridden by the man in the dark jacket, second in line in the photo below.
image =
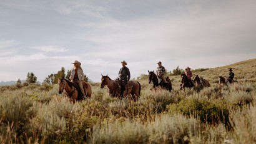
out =
[[[103,89],[106,85],[109,88],[109,94],[112,97],[121,97],[121,84],[119,84],[118,80],[112,80],[109,76],[101,75],[101,89]],[[129,81],[129,84],[126,85],[126,89],[124,90],[124,95],[132,95],[134,101],[137,101],[140,97],[140,89],[141,86],[137,81]]]

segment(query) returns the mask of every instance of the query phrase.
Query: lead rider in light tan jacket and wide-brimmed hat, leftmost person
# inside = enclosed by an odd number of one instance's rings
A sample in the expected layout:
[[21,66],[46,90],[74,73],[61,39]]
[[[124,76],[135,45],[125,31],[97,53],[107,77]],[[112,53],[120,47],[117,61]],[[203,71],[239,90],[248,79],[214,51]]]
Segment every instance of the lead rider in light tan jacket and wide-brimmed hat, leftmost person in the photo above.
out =
[[84,87],[82,86],[82,82],[84,81],[84,72],[82,71],[81,62],[75,60],[73,69],[71,70],[71,75],[69,79],[71,82],[77,83],[79,88],[81,89],[82,94],[86,97],[84,92]]

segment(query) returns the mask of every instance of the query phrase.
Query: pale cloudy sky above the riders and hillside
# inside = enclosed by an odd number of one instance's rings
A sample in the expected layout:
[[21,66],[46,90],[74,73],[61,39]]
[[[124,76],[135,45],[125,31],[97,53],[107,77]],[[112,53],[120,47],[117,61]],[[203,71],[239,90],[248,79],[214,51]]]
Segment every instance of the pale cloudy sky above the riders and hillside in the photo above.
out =
[[42,82],[74,60],[101,82],[256,58],[255,0],[0,0],[0,82]]

